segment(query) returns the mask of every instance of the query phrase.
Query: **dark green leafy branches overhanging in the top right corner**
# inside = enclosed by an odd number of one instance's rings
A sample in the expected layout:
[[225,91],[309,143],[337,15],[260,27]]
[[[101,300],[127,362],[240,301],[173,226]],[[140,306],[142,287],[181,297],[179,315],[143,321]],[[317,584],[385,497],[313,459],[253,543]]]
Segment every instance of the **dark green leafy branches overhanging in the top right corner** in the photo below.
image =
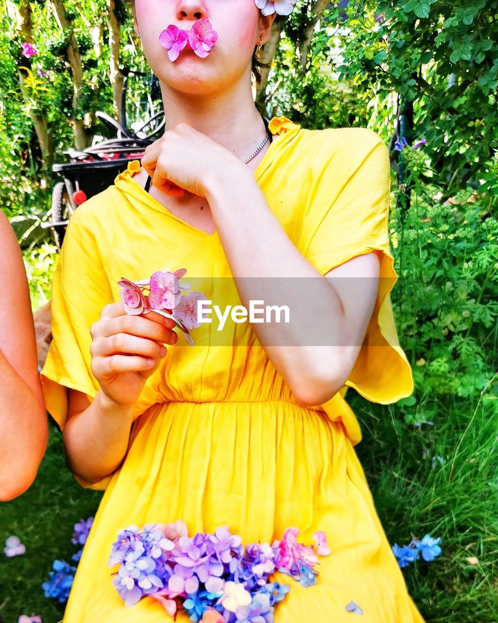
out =
[[347,11],[341,80],[413,102],[406,138],[427,138],[435,181],[450,194],[479,185],[498,142],[497,17],[496,0],[382,0]]

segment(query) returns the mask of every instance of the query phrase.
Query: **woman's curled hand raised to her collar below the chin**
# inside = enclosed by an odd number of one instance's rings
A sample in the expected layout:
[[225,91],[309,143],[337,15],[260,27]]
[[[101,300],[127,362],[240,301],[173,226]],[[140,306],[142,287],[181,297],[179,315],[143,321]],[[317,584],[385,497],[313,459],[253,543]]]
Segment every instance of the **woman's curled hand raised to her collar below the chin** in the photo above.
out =
[[146,147],[141,164],[162,193],[181,197],[185,189],[206,197],[220,171],[227,175],[230,167],[243,163],[209,136],[179,123]]

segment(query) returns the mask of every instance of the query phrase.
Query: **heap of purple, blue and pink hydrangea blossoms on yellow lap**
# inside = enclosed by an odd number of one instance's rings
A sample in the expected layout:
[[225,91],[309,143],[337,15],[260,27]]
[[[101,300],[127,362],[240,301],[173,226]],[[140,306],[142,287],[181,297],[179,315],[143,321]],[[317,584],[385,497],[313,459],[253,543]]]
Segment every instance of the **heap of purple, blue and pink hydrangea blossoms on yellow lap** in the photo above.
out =
[[[142,531],[128,526],[113,543],[108,564],[120,565],[113,585],[125,606],[150,595],[176,612],[174,600],[184,597],[190,621],[270,623],[274,604],[290,590],[287,584],[268,583],[276,568],[304,587],[316,582],[317,556],[313,546],[298,543],[298,528],[288,528],[273,546],[258,542],[244,547],[228,526],[192,538],[186,526],[172,526],[150,524]],[[324,533],[314,538],[321,551],[329,552]]]

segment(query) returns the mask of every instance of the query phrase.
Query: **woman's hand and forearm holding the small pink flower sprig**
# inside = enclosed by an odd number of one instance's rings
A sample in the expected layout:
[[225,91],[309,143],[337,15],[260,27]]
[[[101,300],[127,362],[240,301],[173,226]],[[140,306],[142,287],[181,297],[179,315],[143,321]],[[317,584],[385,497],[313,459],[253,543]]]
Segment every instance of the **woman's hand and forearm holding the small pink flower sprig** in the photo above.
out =
[[155,312],[126,315],[122,302],[106,305],[90,328],[92,373],[100,389],[92,402],[68,392],[63,440],[68,466],[88,483],[119,467],[128,449],[133,411],[146,380],[176,343],[174,323]]

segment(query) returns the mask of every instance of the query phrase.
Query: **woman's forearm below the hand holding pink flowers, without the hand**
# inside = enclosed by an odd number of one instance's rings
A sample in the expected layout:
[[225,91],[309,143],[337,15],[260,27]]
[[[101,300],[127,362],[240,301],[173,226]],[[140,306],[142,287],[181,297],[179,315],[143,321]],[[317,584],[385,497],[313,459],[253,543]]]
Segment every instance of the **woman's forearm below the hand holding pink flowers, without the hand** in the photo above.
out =
[[67,461],[88,483],[113,473],[128,450],[134,405],[120,407],[101,389],[90,406],[70,417],[63,430]]

